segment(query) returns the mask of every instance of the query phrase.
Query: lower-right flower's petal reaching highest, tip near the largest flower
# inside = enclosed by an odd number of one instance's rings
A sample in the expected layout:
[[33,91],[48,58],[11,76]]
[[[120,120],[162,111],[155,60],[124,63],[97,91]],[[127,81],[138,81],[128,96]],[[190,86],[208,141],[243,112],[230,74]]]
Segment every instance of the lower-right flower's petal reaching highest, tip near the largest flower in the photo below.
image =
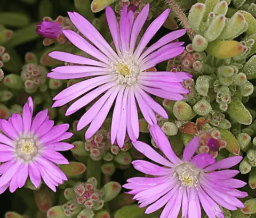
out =
[[173,152],[170,142],[163,133],[163,131],[161,130],[161,128],[158,125],[151,125],[149,131],[158,147],[162,150],[164,155],[171,161],[171,163],[181,164],[182,161]]

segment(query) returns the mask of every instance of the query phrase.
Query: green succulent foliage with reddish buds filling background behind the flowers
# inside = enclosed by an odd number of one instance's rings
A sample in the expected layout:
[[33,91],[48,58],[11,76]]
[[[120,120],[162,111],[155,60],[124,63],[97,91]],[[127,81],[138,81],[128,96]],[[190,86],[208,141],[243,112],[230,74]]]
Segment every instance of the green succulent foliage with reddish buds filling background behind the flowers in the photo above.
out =
[[[103,9],[110,5],[118,14],[127,4],[136,16],[147,3],[150,3],[148,23],[166,8],[172,10],[156,37],[161,37],[162,31],[179,28],[187,28],[189,36],[182,38],[186,43],[185,52],[158,64],[156,69],[185,71],[194,76],[183,82],[189,90],[183,101],[156,98],[169,114],[168,120],[158,116],[159,125],[179,156],[195,135],[202,139],[202,150],[207,147],[204,141],[209,137],[223,145],[220,146],[223,149],[214,153],[217,160],[242,155],[244,159],[239,164],[241,174],[238,177],[248,183],[244,191],[249,197],[243,199],[245,208],[232,212],[224,209],[223,212],[225,217],[256,217],[254,0],[63,0],[61,3],[17,0],[15,4],[4,3],[4,10],[0,12],[0,119],[7,119],[12,113],[21,114],[22,105],[31,95],[36,110],[49,108],[50,119],[57,124],[71,124],[74,137],[69,142],[75,146],[71,155],[66,154],[70,164],[60,166],[69,180],[58,188],[57,193],[43,184],[35,189],[28,180],[26,188],[11,196],[12,207],[5,217],[159,217],[161,211],[144,214],[145,209],[139,208],[125,190],[121,191],[126,179],[143,176],[133,169],[131,162],[144,157],[129,140],[122,149],[110,144],[111,114],[103,127],[85,141],[85,129],[76,131],[79,115],[65,116],[68,105],[51,108],[53,96],[81,80],[47,78],[51,68],[63,65],[47,54],[52,51],[86,54],[78,51],[63,36],[57,40],[42,40],[35,31],[38,21],[54,19],[60,21],[63,28],[76,31],[66,12],[78,11],[111,44]],[[140,140],[150,143],[148,124],[142,116],[140,118]],[[153,140],[151,143],[157,147]]]

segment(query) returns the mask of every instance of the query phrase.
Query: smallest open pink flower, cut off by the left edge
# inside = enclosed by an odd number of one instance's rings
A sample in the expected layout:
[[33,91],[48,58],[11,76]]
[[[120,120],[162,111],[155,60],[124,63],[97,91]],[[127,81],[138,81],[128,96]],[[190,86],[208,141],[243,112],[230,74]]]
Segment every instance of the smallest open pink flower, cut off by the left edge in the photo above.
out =
[[56,164],[69,164],[57,151],[69,150],[74,146],[61,140],[69,139],[73,133],[67,132],[69,124],[54,125],[49,120],[48,110],[33,117],[33,100],[23,107],[22,117],[13,114],[9,120],[0,120],[0,194],[8,187],[14,192],[25,185],[29,176],[35,187],[39,187],[41,177],[53,191],[66,181],[66,175]]

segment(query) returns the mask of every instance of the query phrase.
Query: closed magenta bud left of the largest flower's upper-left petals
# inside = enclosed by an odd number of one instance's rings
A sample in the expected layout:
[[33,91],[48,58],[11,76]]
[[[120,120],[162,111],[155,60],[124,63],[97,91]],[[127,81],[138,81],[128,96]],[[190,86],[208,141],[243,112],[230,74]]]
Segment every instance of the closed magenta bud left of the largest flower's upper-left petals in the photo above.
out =
[[62,32],[60,24],[53,21],[42,21],[40,24],[36,24],[36,26],[37,34],[44,38],[57,39]]

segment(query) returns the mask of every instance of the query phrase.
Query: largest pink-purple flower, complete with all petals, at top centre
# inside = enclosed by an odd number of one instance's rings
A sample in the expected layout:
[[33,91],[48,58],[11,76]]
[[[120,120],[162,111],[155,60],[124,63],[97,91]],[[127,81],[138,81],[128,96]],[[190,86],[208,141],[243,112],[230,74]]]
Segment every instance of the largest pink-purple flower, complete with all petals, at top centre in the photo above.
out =
[[184,51],[182,42],[171,43],[171,41],[184,35],[185,29],[167,34],[146,49],[149,41],[168,18],[169,12],[169,9],[165,10],[150,24],[135,48],[139,33],[148,17],[149,4],[143,8],[136,19],[134,19],[133,11],[127,12],[125,5],[121,12],[119,25],[114,11],[111,7],[107,7],[107,22],[116,52],[83,16],[76,12],[68,13],[70,20],[79,32],[91,43],[71,30],[63,30],[64,35],[77,48],[97,60],[65,52],[52,52],[49,54],[52,58],[83,64],[83,66],[60,66],[53,69],[48,77],[75,79],[93,76],[93,78],[68,87],[53,98],[55,100],[53,107],[59,107],[86,93],[69,106],[66,115],[70,115],[103,94],[77,124],[79,131],[91,123],[85,133],[86,139],[91,138],[100,129],[115,100],[111,124],[111,143],[114,144],[117,141],[117,144],[122,147],[126,130],[130,139],[136,140],[139,137],[136,102],[146,121],[153,125],[157,123],[155,112],[164,118],[168,118],[168,116],[164,108],[147,93],[170,100],[182,100],[181,94],[188,93],[188,90],[182,87],[181,82],[191,78],[190,74],[146,71]]

